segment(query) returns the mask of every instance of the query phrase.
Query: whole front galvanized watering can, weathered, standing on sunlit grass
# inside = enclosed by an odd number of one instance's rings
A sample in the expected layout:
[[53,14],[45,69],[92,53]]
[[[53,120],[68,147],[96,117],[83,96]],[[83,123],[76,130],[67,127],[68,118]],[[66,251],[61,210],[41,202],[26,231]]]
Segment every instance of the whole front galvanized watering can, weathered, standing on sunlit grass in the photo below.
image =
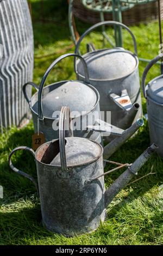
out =
[[[41,145],[36,152],[28,147],[15,148],[9,164],[16,173],[32,176],[12,165],[17,150],[29,150],[36,160],[42,222],[48,230],[66,236],[80,235],[98,228],[104,221],[106,206],[145,164],[156,148],[149,147],[105,190],[103,148],[87,138],[66,137],[65,123],[70,120],[68,108],[61,109],[59,139]],[[67,125],[70,127],[70,125]],[[72,130],[70,129],[72,136]]]

